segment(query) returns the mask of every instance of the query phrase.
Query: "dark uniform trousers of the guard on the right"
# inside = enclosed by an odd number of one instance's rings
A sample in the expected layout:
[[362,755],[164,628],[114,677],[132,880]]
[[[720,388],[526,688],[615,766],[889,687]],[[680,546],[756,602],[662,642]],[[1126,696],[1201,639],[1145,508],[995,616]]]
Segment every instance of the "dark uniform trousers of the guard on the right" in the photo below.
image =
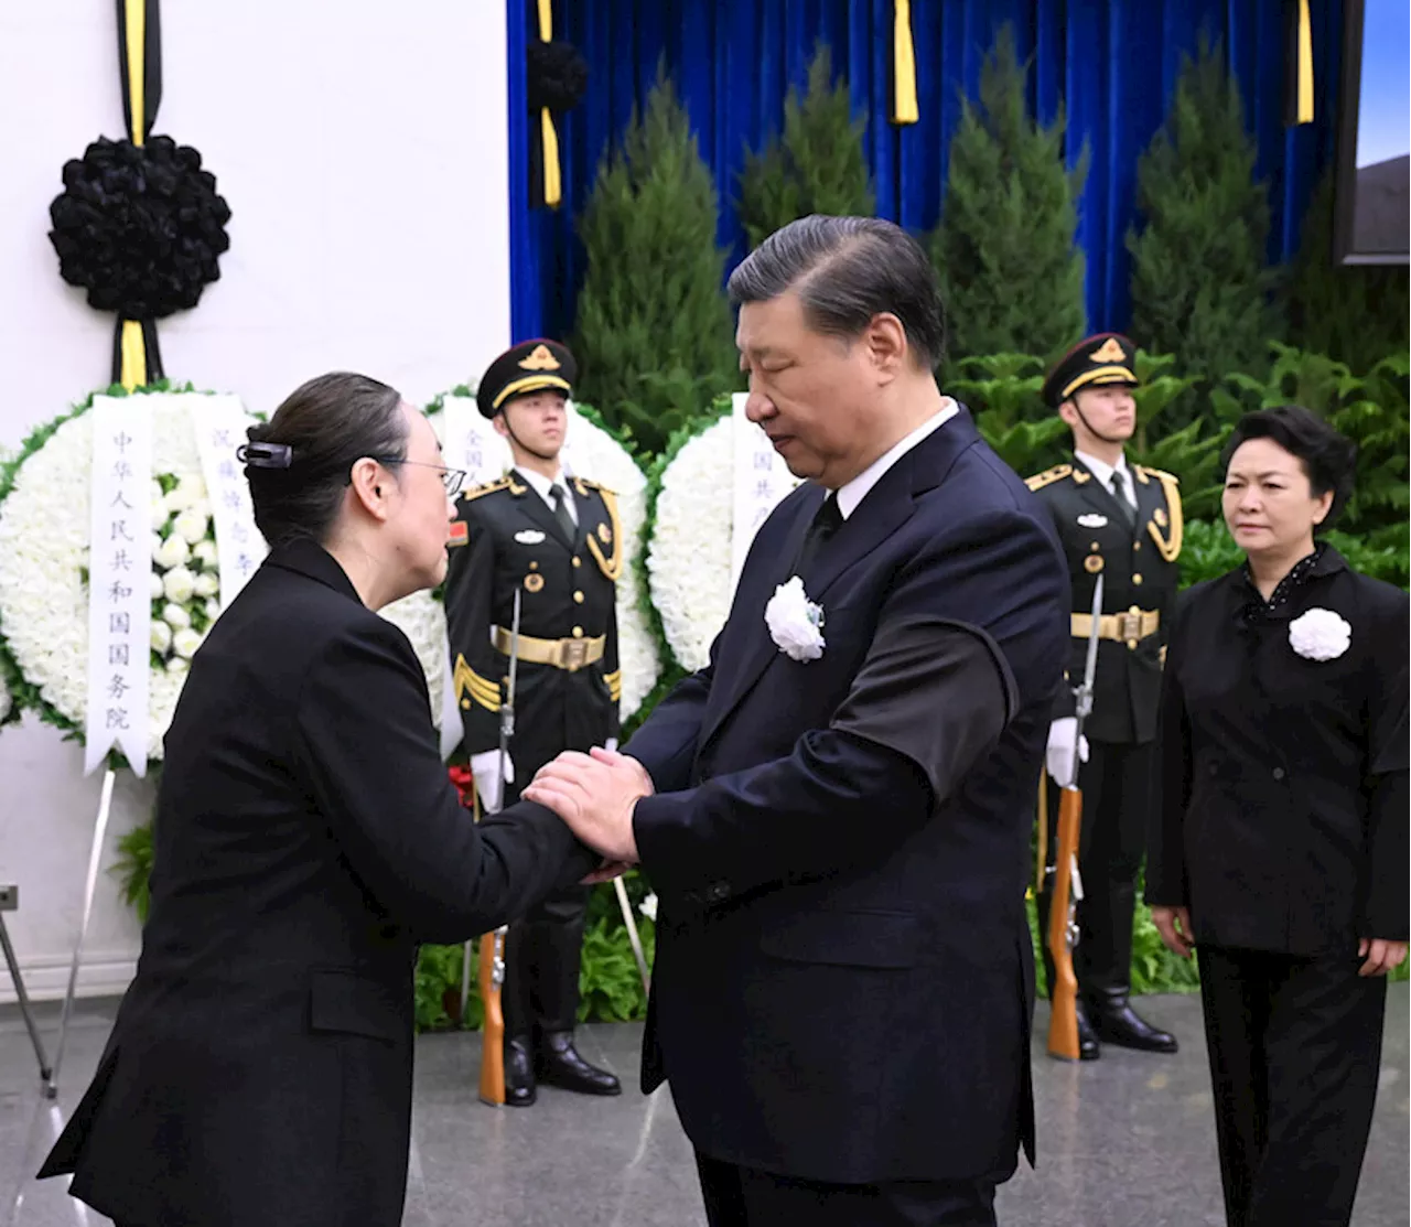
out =
[[[1078,946],[1072,969],[1078,993],[1088,1003],[1125,1001],[1132,991],[1132,921],[1136,914],[1137,872],[1146,853],[1146,824],[1156,795],[1156,742],[1115,745],[1089,742],[1088,762],[1078,771],[1082,790],[1082,828],[1078,872],[1084,898],[1078,904]],[[1058,849],[1058,802],[1062,791],[1044,776],[1048,788],[1048,865]],[[1038,896],[1044,970],[1054,982],[1048,952],[1048,908],[1053,876]]]

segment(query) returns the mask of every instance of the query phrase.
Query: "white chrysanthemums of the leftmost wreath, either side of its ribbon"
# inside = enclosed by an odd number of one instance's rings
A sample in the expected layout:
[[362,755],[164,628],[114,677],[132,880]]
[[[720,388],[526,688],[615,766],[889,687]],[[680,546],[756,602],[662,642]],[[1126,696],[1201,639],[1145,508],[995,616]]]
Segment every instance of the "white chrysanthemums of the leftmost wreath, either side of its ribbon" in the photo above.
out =
[[[144,396],[152,413],[152,474],[176,478],[176,506],[161,496],[164,511],[154,512],[152,527],[207,498],[200,477],[200,453],[192,427],[190,396]],[[199,402],[196,412],[199,412]],[[89,499],[93,463],[93,417],[80,413],[62,423],[44,444],[25,457],[14,488],[0,505],[0,628],[24,678],[40,701],[58,716],[83,728],[87,708],[89,594],[85,568],[89,551]],[[161,489],[152,484],[151,502]],[[158,518],[159,515],[159,518]],[[190,547],[179,535],[154,543],[169,549],[169,561],[158,570],[183,566]],[[198,550],[200,546],[198,546]],[[214,561],[214,546],[210,549]],[[161,575],[152,577],[152,599],[166,601]],[[178,606],[179,608],[179,606]],[[189,616],[188,616],[189,623]],[[171,625],[152,619],[152,649],[171,650]],[[185,628],[182,628],[185,629]],[[152,669],[148,680],[148,753],[162,755],[162,736],[185,681],[188,661],[172,656]]]

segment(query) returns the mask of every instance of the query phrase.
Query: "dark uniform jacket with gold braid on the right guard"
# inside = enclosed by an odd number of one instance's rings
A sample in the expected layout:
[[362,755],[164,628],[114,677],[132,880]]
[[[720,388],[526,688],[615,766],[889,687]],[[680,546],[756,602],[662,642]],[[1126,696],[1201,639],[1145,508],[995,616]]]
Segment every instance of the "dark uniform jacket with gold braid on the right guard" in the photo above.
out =
[[[1130,525],[1112,492],[1077,457],[1029,478],[1029,487],[1048,508],[1068,560],[1072,611],[1089,614],[1092,592],[1102,575],[1102,612],[1150,611],[1157,633],[1136,643],[1105,639],[1098,645],[1092,684],[1092,714],[1084,733],[1095,742],[1133,745],[1156,738],[1161,702],[1163,647],[1171,632],[1175,594],[1181,584],[1184,518],[1174,477],[1129,464],[1137,496]],[[1072,636],[1068,646],[1068,685],[1058,692],[1054,716],[1075,711],[1072,687],[1082,681],[1088,640]]]

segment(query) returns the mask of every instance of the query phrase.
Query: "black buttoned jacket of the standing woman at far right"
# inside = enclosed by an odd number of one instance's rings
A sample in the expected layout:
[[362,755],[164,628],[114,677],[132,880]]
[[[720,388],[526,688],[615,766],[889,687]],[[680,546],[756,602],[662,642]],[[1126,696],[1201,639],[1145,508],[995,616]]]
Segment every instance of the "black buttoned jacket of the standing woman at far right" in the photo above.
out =
[[[1243,567],[1181,598],[1147,903],[1189,907],[1218,946],[1350,958],[1411,938],[1411,595],[1325,549],[1261,606]],[[1311,609],[1350,626],[1340,656],[1294,649]]]

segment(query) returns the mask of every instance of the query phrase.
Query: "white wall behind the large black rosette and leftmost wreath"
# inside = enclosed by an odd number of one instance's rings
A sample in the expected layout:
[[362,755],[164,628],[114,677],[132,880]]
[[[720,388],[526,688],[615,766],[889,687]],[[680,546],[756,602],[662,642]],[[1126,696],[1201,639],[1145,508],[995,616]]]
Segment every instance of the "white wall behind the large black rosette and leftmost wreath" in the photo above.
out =
[[[95,0],[0,4],[0,447],[109,382],[113,319],[47,234],[63,162],[121,135],[114,21]],[[509,343],[499,0],[168,0],[162,42],[157,133],[200,149],[233,212],[222,279],[158,326],[171,378],[272,412],[349,368],[420,403]],[[62,993],[78,928],[100,784],[80,770],[32,718],[0,732],[6,922],[37,997]],[[110,843],[151,800],[120,780]],[[80,986],[121,989],[137,945],[104,873]]]

